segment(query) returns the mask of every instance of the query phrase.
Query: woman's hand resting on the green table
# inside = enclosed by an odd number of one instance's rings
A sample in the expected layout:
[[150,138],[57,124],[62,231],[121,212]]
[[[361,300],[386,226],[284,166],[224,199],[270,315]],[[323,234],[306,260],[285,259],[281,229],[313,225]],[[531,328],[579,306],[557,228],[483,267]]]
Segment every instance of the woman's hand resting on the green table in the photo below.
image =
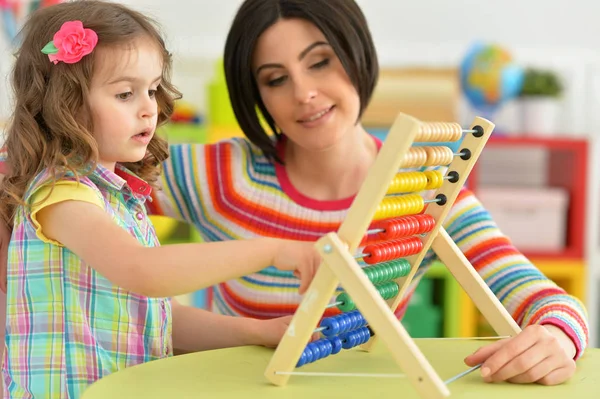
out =
[[576,348],[558,327],[531,325],[516,337],[479,348],[465,358],[469,366],[481,364],[486,382],[557,385],[575,373]]

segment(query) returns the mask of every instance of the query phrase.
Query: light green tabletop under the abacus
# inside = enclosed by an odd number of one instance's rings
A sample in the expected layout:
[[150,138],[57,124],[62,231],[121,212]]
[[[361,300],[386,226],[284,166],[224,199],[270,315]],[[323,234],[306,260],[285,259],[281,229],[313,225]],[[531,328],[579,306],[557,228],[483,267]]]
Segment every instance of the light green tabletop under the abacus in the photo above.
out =
[[[468,369],[462,359],[485,344],[476,340],[415,341],[443,380]],[[277,387],[263,376],[272,353],[266,348],[240,347],[154,361],[97,381],[82,399],[420,399],[405,378],[292,376],[287,386]],[[401,373],[381,342],[371,353],[342,351],[298,371]],[[562,385],[488,384],[482,381],[479,371],[475,371],[448,387],[451,398],[600,398],[600,349],[588,349],[578,362],[575,376]]]

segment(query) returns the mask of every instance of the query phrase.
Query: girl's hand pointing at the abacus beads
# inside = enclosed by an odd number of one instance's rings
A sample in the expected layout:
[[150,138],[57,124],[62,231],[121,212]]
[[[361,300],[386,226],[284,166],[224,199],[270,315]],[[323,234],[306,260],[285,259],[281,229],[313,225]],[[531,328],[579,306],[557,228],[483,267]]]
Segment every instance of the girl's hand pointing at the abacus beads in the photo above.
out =
[[320,263],[321,256],[313,242],[281,240],[273,257],[273,266],[279,270],[293,270],[300,279],[300,294],[308,289]]

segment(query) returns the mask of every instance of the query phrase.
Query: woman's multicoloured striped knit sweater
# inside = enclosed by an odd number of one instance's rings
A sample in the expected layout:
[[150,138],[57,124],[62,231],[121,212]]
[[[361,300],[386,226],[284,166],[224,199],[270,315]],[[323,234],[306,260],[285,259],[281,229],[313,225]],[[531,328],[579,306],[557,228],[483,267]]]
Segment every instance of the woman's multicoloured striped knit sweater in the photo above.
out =
[[[173,145],[170,152],[163,189],[151,211],[192,223],[206,241],[259,236],[314,241],[337,230],[353,200],[318,201],[304,196],[294,189],[282,165],[270,162],[246,139]],[[517,323],[562,328],[575,343],[576,356],[581,356],[588,343],[583,304],[515,249],[473,193],[461,191],[444,227]],[[410,294],[434,260],[430,251]],[[215,286],[212,310],[255,318],[293,314],[302,299],[298,283],[291,272],[269,267]],[[328,309],[326,315],[335,312]]]

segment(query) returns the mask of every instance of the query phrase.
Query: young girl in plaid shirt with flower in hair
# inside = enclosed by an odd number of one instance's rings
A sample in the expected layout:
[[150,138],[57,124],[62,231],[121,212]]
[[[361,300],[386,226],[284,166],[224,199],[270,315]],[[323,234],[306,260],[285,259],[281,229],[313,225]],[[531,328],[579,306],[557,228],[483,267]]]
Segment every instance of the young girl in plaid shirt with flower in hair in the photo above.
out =
[[5,398],[77,398],[173,346],[276,345],[288,318],[171,308],[169,297],[269,265],[299,274],[303,291],[316,271],[306,242],[157,246],[144,207],[167,157],[155,129],[178,95],[169,68],[155,26],[121,5],[63,3],[23,29],[0,203],[13,227]]

